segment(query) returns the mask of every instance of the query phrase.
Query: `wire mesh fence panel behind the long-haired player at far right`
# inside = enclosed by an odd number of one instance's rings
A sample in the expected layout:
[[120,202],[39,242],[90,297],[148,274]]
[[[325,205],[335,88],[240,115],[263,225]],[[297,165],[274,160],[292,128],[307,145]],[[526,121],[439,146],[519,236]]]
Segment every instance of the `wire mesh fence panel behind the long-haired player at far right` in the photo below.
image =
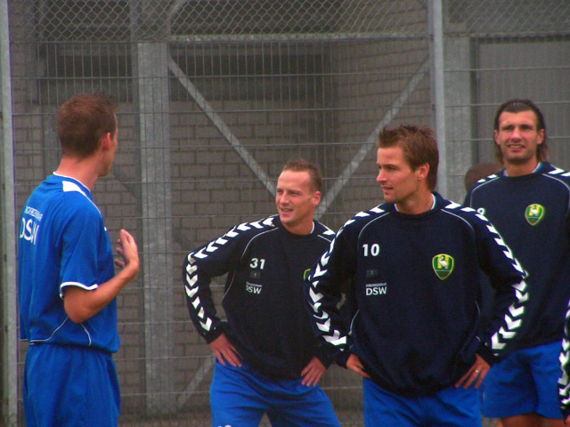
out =
[[[565,143],[570,135],[570,4],[455,0],[447,2],[446,12],[446,133],[453,148],[447,160],[452,173],[461,176],[470,165],[494,161],[494,114],[513,98],[530,99],[542,109],[550,161],[570,168]],[[464,193],[456,188],[458,199]]]

